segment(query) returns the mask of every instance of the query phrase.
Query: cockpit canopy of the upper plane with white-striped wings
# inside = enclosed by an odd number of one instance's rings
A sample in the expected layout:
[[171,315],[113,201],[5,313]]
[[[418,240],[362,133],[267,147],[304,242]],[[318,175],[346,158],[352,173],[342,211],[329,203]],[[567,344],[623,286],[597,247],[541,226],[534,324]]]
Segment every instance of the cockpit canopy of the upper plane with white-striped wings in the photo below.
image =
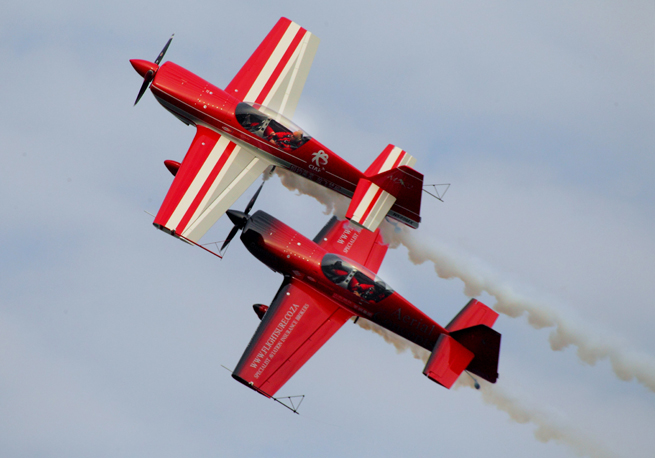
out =
[[280,113],[258,103],[241,102],[234,114],[244,129],[287,152],[300,148],[312,138]]

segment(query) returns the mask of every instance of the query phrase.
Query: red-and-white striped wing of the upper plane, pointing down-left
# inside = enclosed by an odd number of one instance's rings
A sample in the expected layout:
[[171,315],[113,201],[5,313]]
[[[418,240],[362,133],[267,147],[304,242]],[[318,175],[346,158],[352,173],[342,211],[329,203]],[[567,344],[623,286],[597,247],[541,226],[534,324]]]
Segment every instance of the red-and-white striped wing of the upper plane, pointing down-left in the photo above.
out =
[[153,224],[197,243],[269,164],[198,126]]

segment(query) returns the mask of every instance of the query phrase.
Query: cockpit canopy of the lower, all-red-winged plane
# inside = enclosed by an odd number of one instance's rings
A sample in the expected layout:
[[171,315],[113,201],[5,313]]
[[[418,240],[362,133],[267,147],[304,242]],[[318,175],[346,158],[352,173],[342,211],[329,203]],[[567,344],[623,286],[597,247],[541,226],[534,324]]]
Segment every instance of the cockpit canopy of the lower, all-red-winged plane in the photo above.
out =
[[321,260],[321,270],[334,284],[368,302],[380,302],[393,294],[377,275],[350,259],[328,253]]

